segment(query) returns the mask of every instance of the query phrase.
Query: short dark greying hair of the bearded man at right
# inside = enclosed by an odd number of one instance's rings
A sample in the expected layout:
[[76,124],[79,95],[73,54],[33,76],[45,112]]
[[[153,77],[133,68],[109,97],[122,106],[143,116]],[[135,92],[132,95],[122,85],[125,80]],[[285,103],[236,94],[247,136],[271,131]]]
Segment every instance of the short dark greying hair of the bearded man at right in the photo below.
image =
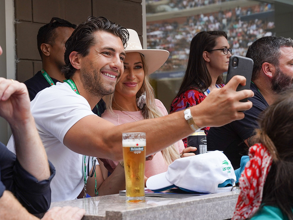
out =
[[268,62],[276,67],[279,65],[280,47],[293,47],[293,40],[268,36],[261,37],[251,44],[246,57],[253,59],[252,81],[258,78],[263,63]]

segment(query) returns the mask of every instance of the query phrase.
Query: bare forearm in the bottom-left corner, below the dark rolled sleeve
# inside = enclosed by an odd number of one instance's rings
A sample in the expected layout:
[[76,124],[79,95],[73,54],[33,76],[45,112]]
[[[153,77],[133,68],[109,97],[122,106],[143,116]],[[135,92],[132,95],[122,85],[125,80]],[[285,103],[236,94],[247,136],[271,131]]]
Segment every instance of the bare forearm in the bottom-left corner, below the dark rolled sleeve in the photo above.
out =
[[16,200],[9,191],[4,191],[0,198],[0,219],[1,220],[39,220]]

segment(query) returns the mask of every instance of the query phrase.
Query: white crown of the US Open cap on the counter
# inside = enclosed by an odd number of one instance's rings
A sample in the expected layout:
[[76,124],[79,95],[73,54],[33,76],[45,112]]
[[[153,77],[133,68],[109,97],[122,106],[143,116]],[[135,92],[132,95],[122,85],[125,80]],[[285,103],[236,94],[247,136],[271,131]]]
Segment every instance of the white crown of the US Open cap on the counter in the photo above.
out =
[[[229,168],[229,169],[228,169]],[[216,193],[218,185],[236,176],[229,159],[219,151],[173,161],[166,179],[174,185],[202,193]]]

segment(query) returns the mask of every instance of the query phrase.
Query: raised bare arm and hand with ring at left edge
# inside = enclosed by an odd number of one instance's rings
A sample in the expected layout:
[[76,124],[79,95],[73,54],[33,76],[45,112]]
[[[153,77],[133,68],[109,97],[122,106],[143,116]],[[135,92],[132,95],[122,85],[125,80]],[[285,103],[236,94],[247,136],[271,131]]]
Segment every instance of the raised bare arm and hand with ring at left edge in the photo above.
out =
[[47,155],[30,113],[28,90],[23,83],[0,78],[0,116],[11,126],[21,166],[38,181],[48,179],[51,174]]

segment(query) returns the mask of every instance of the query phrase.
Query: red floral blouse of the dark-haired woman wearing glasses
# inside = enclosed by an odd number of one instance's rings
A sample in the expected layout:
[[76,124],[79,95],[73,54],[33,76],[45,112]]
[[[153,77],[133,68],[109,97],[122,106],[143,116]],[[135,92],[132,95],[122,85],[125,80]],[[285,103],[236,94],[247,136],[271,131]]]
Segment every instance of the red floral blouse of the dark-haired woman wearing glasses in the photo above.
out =
[[[217,84],[220,88],[224,86],[224,84]],[[177,96],[173,102],[171,103],[170,107],[170,113],[176,112],[176,111],[182,111],[185,110],[191,106],[200,104],[202,100],[204,100],[206,95],[203,92],[198,92],[197,90],[190,89],[186,92],[180,94]],[[201,130],[205,131],[205,134],[208,133],[209,127],[202,128]],[[186,138],[182,139],[184,143],[184,147],[187,147],[187,141]]]

